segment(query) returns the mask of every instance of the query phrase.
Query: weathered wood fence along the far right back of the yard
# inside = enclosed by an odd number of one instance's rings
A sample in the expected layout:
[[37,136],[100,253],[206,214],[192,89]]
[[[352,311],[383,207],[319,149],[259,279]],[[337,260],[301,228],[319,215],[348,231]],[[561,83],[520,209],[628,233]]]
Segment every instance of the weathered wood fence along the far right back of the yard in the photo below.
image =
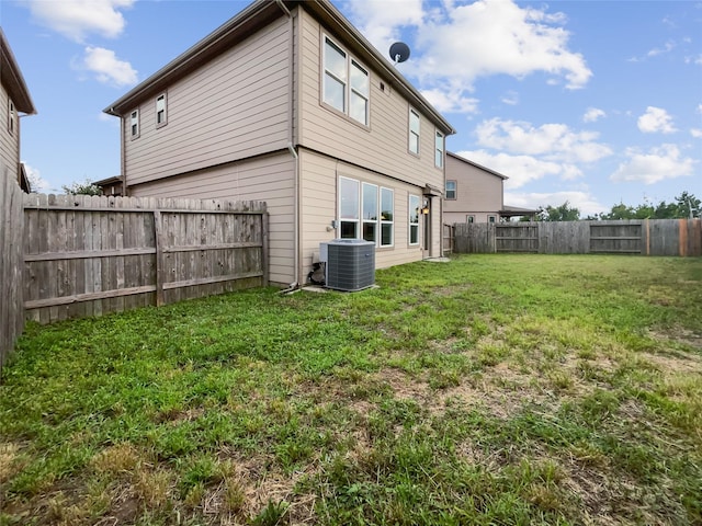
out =
[[702,219],[455,224],[458,253],[702,255]]

